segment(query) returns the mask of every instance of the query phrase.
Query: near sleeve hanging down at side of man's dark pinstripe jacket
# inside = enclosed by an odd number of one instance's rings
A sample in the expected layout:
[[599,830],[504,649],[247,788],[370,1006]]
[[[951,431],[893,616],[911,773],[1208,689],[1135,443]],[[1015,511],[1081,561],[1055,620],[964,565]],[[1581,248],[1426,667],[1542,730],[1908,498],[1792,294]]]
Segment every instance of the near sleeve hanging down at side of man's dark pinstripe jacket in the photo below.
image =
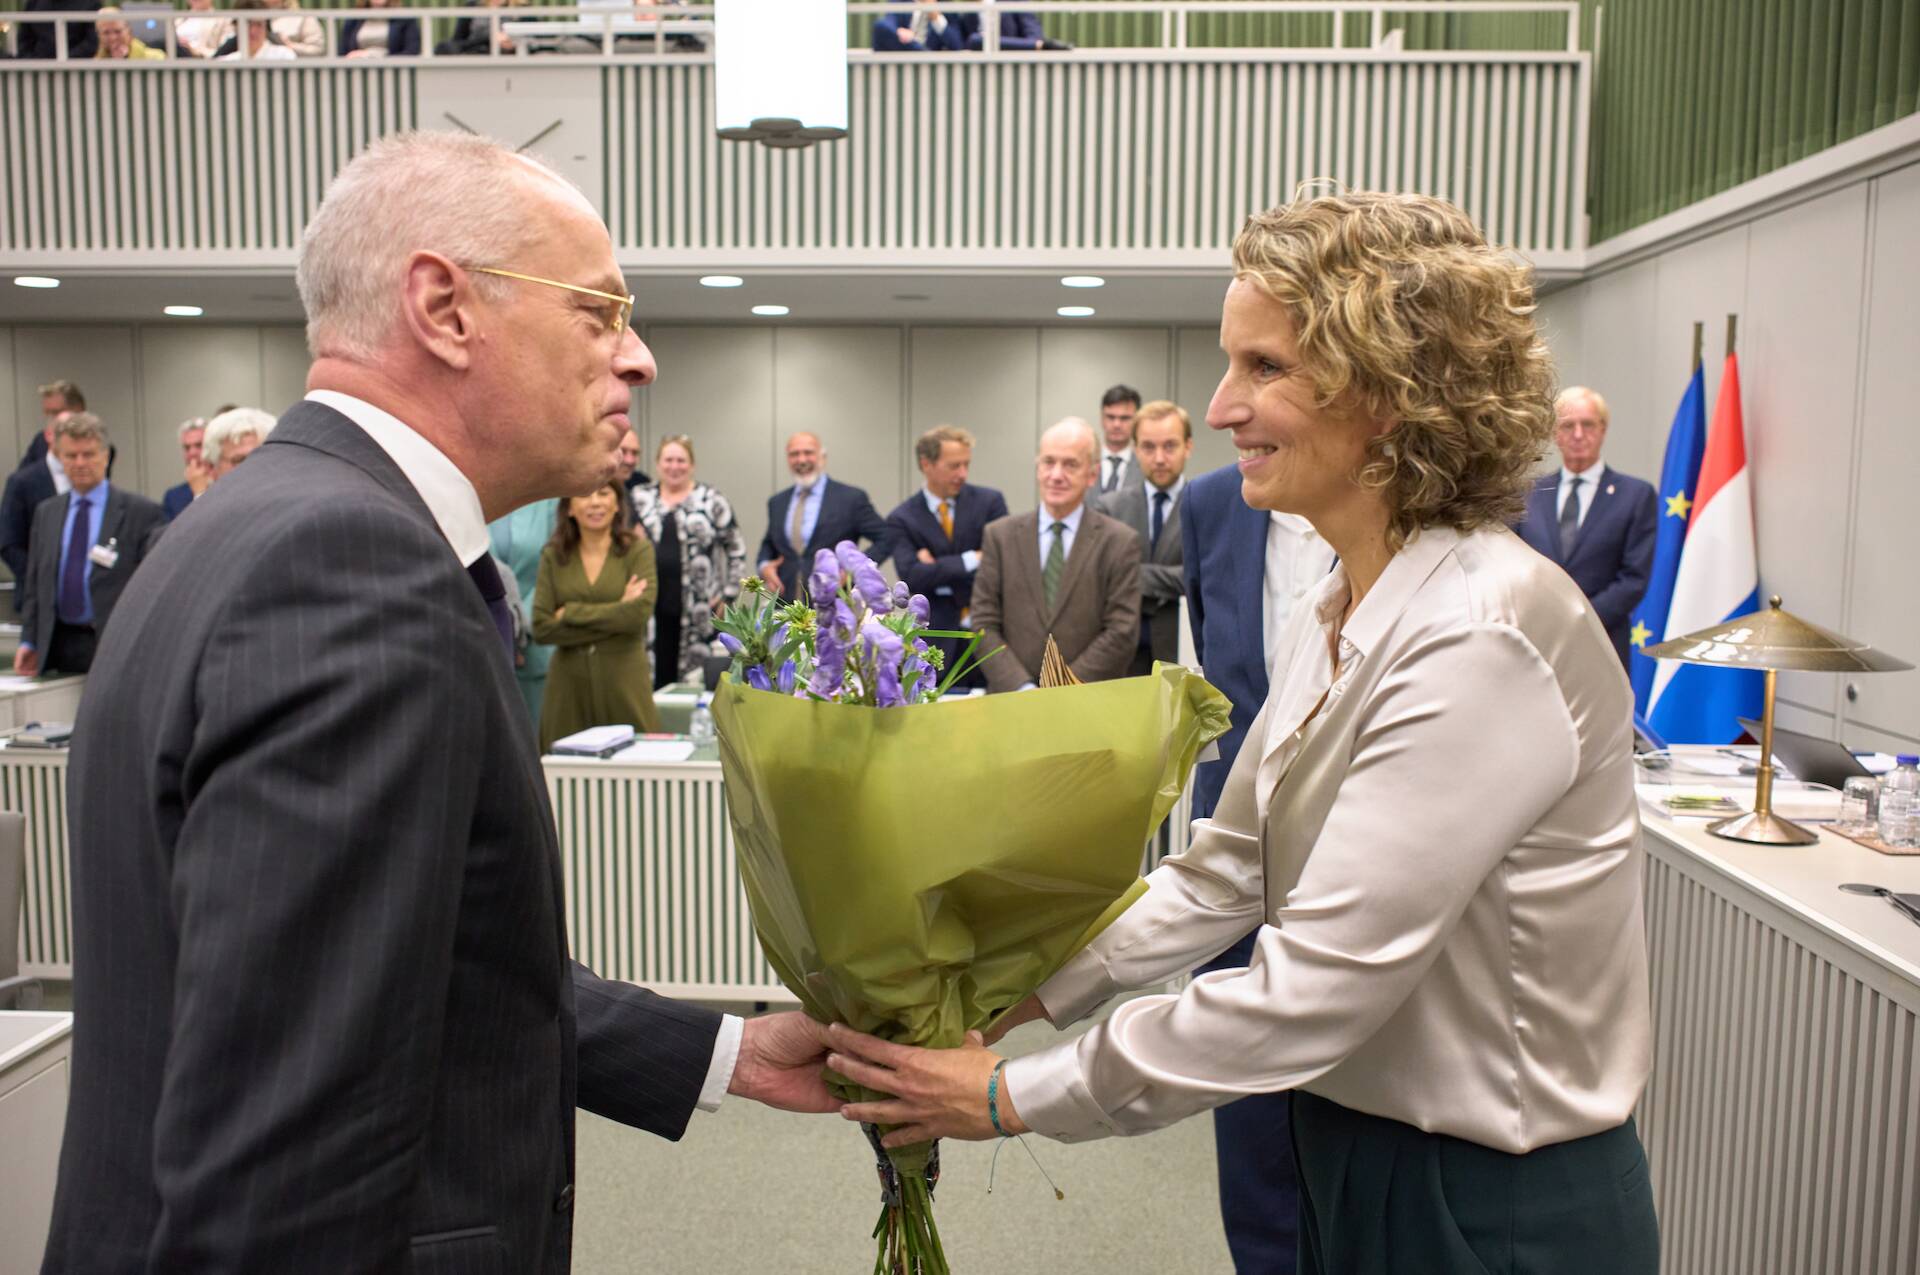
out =
[[[484,730],[499,649],[430,526],[361,507],[301,532],[353,570],[252,572],[192,691],[169,891],[219,924],[179,952],[152,1269],[409,1263],[480,782],[449,741]],[[269,1183],[300,1208],[257,1208]]]

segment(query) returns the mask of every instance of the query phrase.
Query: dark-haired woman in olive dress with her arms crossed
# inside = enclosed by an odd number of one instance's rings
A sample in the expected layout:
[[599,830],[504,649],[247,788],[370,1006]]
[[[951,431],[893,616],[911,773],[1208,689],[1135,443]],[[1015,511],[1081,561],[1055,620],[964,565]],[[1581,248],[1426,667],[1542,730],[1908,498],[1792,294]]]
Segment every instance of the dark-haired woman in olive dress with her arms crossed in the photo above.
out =
[[653,545],[634,534],[620,488],[561,501],[534,588],[534,641],[555,647],[541,753],[589,726],[659,730],[647,666],[657,597]]

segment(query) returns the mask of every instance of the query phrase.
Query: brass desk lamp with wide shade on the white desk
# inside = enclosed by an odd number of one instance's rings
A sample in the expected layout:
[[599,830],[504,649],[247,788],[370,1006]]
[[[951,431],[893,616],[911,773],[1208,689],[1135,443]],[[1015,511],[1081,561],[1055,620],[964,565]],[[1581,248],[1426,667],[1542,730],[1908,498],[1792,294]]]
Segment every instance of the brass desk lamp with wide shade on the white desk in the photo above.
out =
[[1774,814],[1774,684],[1778,670],[1809,672],[1899,672],[1912,668],[1907,661],[1876,651],[1864,641],[1811,624],[1791,611],[1780,609],[1780,597],[1768,599],[1766,611],[1734,616],[1724,624],[1703,628],[1684,638],[1668,638],[1645,647],[1642,655],[1688,664],[1716,664],[1720,668],[1764,668],[1766,701],[1761,714],[1761,772],[1753,785],[1753,810],[1707,824],[1707,831],[1728,841],[1759,845],[1809,845],[1820,835],[1793,820]]

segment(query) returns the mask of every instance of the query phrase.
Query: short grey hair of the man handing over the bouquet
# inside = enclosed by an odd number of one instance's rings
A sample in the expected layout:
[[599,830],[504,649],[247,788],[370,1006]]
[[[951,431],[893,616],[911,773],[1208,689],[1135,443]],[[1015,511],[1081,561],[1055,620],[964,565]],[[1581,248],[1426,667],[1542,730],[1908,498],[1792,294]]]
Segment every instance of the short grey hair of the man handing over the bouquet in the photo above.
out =
[[[538,159],[468,132],[396,132],[348,163],[300,242],[300,301],[313,357],[371,361],[399,319],[407,259],[438,252],[455,265],[513,269],[543,227],[528,217]],[[513,286],[472,275],[488,300]]]

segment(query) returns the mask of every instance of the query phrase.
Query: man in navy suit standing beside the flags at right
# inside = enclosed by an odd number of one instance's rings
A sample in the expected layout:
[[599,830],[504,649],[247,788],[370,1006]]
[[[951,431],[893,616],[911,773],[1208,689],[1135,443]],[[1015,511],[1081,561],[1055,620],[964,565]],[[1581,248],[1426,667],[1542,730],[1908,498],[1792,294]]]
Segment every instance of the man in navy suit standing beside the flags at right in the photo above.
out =
[[1546,474],[1526,497],[1521,540],[1559,563],[1594,603],[1599,622],[1628,659],[1628,624],[1653,572],[1659,501],[1653,486],[1607,469],[1607,399],[1586,386],[1553,399],[1553,445],[1561,470]]

